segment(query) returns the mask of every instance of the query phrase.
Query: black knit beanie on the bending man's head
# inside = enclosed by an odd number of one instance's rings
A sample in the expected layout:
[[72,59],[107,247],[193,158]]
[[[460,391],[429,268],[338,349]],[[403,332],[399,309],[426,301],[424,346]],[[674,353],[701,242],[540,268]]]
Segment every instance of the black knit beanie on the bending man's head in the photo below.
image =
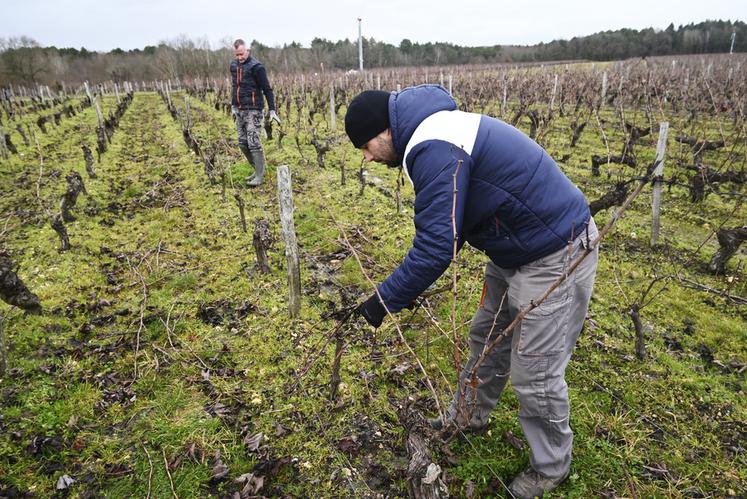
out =
[[345,114],[345,132],[356,148],[389,128],[389,92],[366,90],[358,94]]

